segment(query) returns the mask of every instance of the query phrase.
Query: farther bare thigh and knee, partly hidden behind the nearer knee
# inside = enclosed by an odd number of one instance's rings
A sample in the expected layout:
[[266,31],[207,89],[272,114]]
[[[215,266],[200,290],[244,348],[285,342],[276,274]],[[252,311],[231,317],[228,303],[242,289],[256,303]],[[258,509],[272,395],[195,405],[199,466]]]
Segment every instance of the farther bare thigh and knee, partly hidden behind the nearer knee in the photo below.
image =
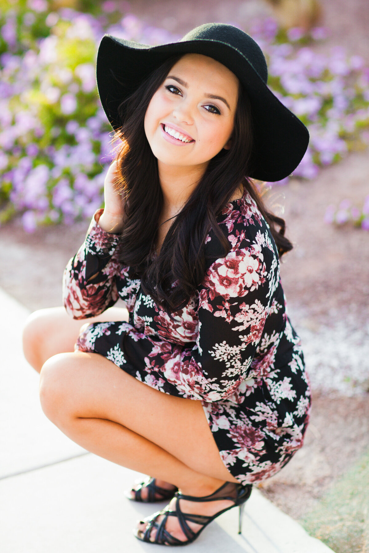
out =
[[46,359],[64,352],[74,351],[82,325],[86,322],[126,321],[128,311],[110,307],[97,317],[72,319],[64,307],[49,307],[34,311],[23,330],[23,351],[27,361],[40,371]]

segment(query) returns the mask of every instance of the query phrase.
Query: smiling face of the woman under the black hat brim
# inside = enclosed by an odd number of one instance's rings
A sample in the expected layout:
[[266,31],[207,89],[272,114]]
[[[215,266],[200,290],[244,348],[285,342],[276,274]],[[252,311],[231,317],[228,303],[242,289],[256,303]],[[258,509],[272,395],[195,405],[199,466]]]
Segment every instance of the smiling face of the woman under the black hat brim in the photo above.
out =
[[222,148],[230,148],[238,86],[227,67],[207,56],[186,54],[176,62],[144,119],[158,163],[205,170]]

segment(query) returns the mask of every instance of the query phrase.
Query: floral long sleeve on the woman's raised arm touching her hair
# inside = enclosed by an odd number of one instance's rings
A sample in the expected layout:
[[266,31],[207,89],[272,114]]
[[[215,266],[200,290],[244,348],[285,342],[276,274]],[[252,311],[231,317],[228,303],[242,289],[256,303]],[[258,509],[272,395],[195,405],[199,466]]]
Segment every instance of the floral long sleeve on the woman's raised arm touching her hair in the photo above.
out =
[[117,279],[124,291],[122,281],[128,277],[127,268],[118,260],[119,236],[98,225],[101,213],[102,210],[96,211],[84,243],[64,271],[63,302],[74,319],[99,315],[114,305],[118,299]]

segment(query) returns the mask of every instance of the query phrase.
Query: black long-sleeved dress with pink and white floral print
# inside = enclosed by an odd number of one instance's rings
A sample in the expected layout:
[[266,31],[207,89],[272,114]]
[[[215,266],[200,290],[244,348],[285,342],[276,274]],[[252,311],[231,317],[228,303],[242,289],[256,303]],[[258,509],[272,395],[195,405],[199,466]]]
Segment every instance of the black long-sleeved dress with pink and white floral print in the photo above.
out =
[[303,444],[310,387],[286,311],[276,244],[255,202],[245,191],[222,210],[218,224],[231,251],[221,257],[209,232],[204,280],[174,320],[119,262],[119,237],[98,226],[101,211],[65,269],[64,304],[84,319],[120,297],[129,322],[93,323],[76,347],[100,353],[160,392],[201,401],[237,481],[272,476]]

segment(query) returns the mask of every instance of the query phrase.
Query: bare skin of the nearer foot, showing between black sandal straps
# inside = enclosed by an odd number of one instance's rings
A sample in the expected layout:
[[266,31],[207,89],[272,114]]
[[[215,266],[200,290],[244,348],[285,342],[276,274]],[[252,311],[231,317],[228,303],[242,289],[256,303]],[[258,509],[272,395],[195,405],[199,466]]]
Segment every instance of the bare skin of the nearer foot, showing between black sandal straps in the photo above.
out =
[[[214,492],[214,489],[212,491],[208,491],[207,493],[197,493],[196,495],[198,497],[204,497],[204,495],[210,495],[212,492]],[[219,513],[223,509],[227,509],[228,507],[232,507],[235,502],[228,500],[228,499],[218,499],[215,501],[209,501],[204,503],[198,503],[194,501],[189,501],[186,499],[178,499],[174,497],[171,499],[169,505],[167,508],[168,510],[174,511],[176,510],[176,502],[179,501],[180,509],[183,513],[187,514],[196,514],[196,515],[205,515],[206,517],[214,517],[216,513]],[[163,520],[165,515],[159,515],[157,518],[157,524],[160,525],[160,522]],[[143,536],[145,533],[146,527],[149,524],[149,519],[152,517],[148,517],[147,519],[141,520],[139,524],[137,525],[137,531],[139,536]],[[196,524],[189,520],[186,521],[188,526],[191,528],[191,530],[194,531],[194,533],[198,533],[201,528],[203,528],[202,524]],[[165,524],[165,530],[169,532],[174,538],[180,540],[180,541],[188,541],[188,538],[184,534],[183,530],[180,527],[179,520],[177,517],[170,516],[167,519],[167,523]],[[152,528],[150,532],[150,541],[155,541],[155,535],[157,533],[156,528]]]

